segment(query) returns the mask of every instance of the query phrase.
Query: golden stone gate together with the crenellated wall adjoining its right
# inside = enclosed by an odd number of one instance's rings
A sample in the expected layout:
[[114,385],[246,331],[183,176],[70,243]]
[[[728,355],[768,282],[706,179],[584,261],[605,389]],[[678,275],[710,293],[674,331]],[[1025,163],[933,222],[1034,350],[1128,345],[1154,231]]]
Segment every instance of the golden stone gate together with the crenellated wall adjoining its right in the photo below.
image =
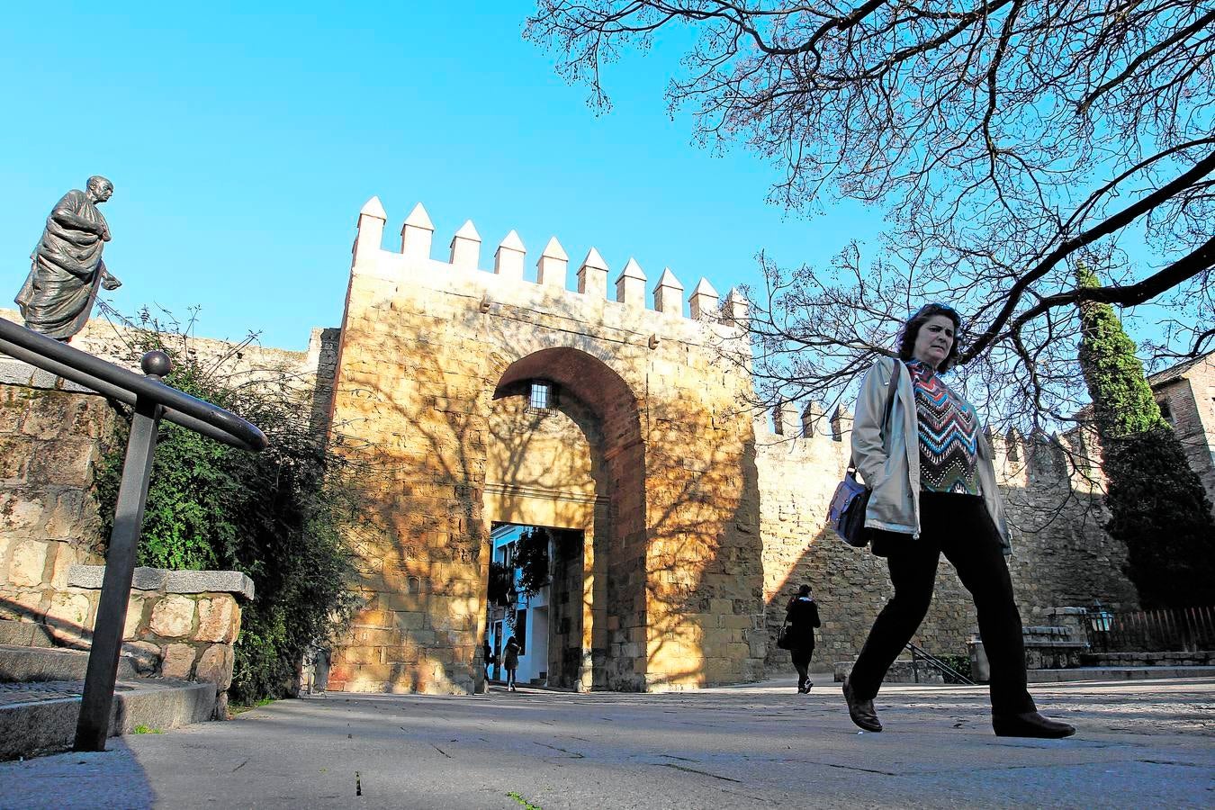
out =
[[[701,279],[685,312],[669,270],[650,288],[631,260],[610,294],[594,248],[571,284],[555,238],[532,276],[512,231],[491,272],[471,222],[439,261],[420,204],[400,250],[383,249],[386,220],[378,198],[358,215],[334,378],[332,436],[366,470],[368,511],[351,538],[363,610],[330,689],[481,686],[496,522],[582,533],[554,571],[553,682],[667,690],[789,668],[772,638],[801,582],[826,623],[819,656],[857,653],[889,587],[881,560],[824,537],[850,417],[755,420],[736,291],[720,302]],[[1057,440],[993,444],[1022,519],[1011,567],[1027,621],[1134,604],[1125,550],[1086,517],[1091,477]],[[1035,528],[1038,511],[1055,522]],[[948,565],[939,577],[917,640],[961,652],[973,607]]]

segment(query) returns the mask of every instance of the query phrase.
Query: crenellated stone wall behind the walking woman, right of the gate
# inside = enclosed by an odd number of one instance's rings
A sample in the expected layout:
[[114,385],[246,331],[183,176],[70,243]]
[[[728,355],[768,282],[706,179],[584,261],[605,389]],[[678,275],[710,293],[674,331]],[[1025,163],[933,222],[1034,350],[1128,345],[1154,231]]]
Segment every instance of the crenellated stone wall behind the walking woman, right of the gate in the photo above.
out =
[[[815,652],[820,665],[852,661],[893,593],[882,559],[825,528],[849,454],[850,419],[841,417],[830,432],[813,413],[804,426],[782,425],[791,421],[787,417],[778,420],[785,435],[758,429],[769,672],[792,673],[775,636],[785,605],[802,583],[812,587],[823,618]],[[1136,608],[1135,588],[1121,573],[1126,550],[1101,528],[1100,471],[1084,468],[1081,448],[1019,436],[993,437],[991,444],[1012,531],[1008,568],[1024,623],[1041,623],[1052,606],[1097,599],[1114,610]],[[932,607],[914,641],[932,653],[965,655],[976,633],[970,594],[942,560]]]

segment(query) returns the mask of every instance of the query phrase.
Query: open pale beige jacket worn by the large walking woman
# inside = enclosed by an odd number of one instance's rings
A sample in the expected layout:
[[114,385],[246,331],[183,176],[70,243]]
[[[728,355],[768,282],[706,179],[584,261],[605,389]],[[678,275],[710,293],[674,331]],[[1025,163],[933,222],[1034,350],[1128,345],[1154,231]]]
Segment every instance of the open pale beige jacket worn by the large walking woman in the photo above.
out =
[[[891,430],[882,435],[886,391],[891,373],[898,372],[899,387],[891,410]],[[995,482],[991,447],[984,430],[978,431],[978,477],[983,503],[1000,534],[1005,554],[1012,553],[1008,523],[1000,488]],[[852,426],[852,458],[865,486],[874,492],[865,509],[865,526],[899,534],[920,536],[920,426],[916,420],[915,389],[906,367],[883,357],[865,374],[857,397]]]

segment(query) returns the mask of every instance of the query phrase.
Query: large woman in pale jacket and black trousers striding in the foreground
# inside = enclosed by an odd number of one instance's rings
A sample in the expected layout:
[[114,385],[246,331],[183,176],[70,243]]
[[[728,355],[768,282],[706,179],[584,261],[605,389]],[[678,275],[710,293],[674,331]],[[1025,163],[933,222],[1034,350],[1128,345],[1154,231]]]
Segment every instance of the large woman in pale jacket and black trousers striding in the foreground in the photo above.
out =
[[[844,679],[848,714],[881,731],[874,697],[920,627],[944,554],[971,593],[991,664],[991,725],[1005,737],[1067,737],[1070,725],[1038,713],[1025,687],[1025,648],[1005,555],[1008,526],[991,449],[974,407],[942,380],[957,357],[961,318],[928,304],[904,324],[899,358],[869,370],[857,401],[852,453],[872,487],[865,511],[872,551],[886,557],[894,596],[874,622]],[[899,375],[888,421],[887,386]]]

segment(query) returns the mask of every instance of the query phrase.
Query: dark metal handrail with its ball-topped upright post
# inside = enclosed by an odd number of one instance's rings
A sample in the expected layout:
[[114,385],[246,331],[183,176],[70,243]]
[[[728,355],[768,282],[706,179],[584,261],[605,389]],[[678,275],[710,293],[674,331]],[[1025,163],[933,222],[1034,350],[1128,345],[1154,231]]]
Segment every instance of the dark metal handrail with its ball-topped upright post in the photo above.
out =
[[10,357],[134,406],[73,746],[75,750],[104,750],[160,419],[247,451],[258,452],[269,442],[265,434],[234,413],[162,383],[160,378],[173,369],[173,362],[163,351],[143,355],[140,364],[147,376],[140,376],[2,318],[0,350]]

